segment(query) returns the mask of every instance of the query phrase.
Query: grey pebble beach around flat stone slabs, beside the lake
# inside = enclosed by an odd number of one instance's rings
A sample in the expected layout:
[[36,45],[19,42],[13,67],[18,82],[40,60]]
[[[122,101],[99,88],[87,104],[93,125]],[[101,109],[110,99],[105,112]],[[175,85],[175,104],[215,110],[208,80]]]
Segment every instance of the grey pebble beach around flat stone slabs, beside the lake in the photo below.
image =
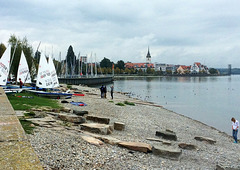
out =
[[[71,110],[88,111],[88,115],[110,118],[111,125],[114,122],[125,124],[125,130],[114,130],[107,136],[121,141],[162,146],[164,144],[161,142],[147,139],[161,139],[155,136],[156,131],[168,129],[177,136],[176,141],[168,141],[169,147],[180,149],[182,154],[178,160],[172,160],[151,152],[129,150],[105,142],[99,146],[93,145],[81,138],[83,132],[80,125],[63,123],[57,120],[54,114],[46,112],[57,121],[52,126],[36,126],[34,134],[27,135],[44,169],[216,169],[218,166],[240,168],[240,145],[234,144],[232,137],[226,133],[121,93],[115,92],[114,99],[111,100],[109,92],[107,99],[102,99],[99,89],[86,86],[73,88],[78,88],[85,96],[64,100],[84,102],[87,106],[70,103],[61,105]],[[135,106],[116,105],[124,101],[133,102]],[[216,143],[198,141],[194,139],[196,136],[211,138]],[[196,149],[181,149],[179,143],[192,144]]]

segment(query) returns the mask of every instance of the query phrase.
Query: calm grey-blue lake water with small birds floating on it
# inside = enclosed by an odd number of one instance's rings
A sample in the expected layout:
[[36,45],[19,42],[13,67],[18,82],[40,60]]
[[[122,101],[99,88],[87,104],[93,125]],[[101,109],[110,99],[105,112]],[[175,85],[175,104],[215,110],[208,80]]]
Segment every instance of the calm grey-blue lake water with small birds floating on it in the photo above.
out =
[[[240,119],[240,75],[216,77],[125,77],[114,90],[162,105],[231,134]],[[110,84],[107,85],[108,90]]]

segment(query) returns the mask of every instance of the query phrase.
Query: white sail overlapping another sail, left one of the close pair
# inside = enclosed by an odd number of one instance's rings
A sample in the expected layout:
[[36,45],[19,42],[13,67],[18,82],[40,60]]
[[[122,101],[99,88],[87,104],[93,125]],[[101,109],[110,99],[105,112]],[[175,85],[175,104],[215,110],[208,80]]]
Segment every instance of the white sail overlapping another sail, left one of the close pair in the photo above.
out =
[[50,68],[47,63],[47,59],[45,55],[41,55],[39,66],[38,66],[38,74],[37,74],[37,87],[40,88],[52,88],[52,77],[50,73]]

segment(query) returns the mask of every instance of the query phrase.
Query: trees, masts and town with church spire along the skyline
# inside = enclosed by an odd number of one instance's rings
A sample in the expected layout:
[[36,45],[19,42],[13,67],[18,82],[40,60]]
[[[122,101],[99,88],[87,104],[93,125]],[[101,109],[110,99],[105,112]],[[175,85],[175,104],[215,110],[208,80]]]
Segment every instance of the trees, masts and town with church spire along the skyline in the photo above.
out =
[[[21,49],[25,53],[27,62],[30,67],[32,75],[36,75],[38,68],[40,51],[33,52],[33,47],[29,45],[27,38],[22,40],[12,35],[8,41],[12,45],[12,67],[10,73],[16,75],[18,63],[20,60]],[[39,44],[40,45],[40,44]],[[4,53],[6,46],[0,43],[0,58]],[[52,57],[46,56],[47,58]],[[82,77],[94,76],[99,74],[114,74],[114,75],[176,75],[176,76],[208,76],[208,75],[231,75],[240,74],[240,69],[231,68],[228,64],[227,68],[209,68],[207,65],[196,61],[192,65],[166,64],[166,63],[152,63],[150,49],[146,50],[146,61],[141,63],[124,62],[119,60],[116,63],[110,61],[108,58],[102,59],[99,63],[93,62],[93,56],[78,56],[75,55],[73,47],[70,45],[67,50],[67,55],[61,58],[61,52],[58,59],[54,59],[54,64],[59,77]],[[96,58],[96,57],[95,57]],[[90,62],[89,62],[90,61]]]

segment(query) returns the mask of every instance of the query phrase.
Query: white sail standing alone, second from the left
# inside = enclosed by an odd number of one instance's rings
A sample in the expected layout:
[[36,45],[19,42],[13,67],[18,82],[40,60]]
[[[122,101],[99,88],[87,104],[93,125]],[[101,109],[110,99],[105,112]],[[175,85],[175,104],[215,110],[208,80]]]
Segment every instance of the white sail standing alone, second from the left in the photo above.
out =
[[23,51],[21,53],[21,58],[18,66],[17,82],[19,82],[19,78],[22,80],[23,83],[31,83],[30,72]]

